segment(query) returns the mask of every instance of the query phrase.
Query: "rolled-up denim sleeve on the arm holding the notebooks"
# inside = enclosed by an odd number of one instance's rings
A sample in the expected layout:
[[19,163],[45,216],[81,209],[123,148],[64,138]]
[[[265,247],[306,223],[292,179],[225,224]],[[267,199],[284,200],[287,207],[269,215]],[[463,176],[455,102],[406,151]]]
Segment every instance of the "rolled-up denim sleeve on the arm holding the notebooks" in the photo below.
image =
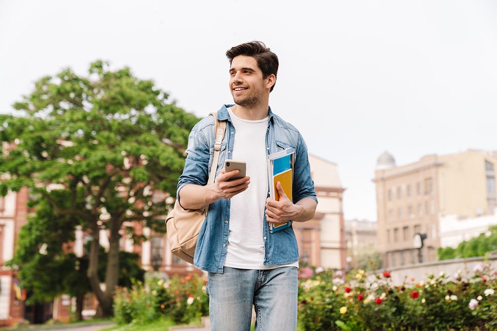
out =
[[307,145],[299,133],[299,144],[295,152],[295,173],[293,186],[293,202],[297,203],[303,198],[311,198],[317,203],[314,181],[311,178]]

